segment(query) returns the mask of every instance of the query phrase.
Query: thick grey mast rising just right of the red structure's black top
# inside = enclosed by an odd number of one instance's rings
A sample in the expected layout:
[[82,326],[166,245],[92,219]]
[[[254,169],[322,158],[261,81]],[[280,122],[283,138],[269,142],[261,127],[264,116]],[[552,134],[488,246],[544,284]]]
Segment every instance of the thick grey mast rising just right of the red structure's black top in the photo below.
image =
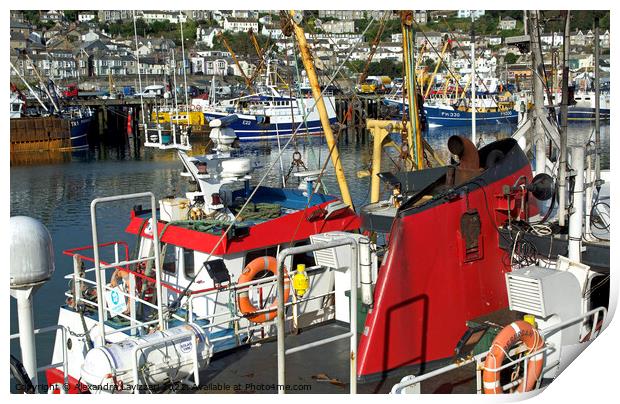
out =
[[[530,43],[532,51],[532,87],[534,89],[534,134],[532,143],[536,150],[536,174],[545,172],[545,164],[547,162],[547,154],[545,151],[545,129],[543,128],[542,119],[545,118],[545,97],[543,95],[543,77],[544,62],[542,60],[542,52],[540,51],[540,37],[538,36],[538,11],[530,11]],[[551,97],[549,98],[549,106],[552,107]]]

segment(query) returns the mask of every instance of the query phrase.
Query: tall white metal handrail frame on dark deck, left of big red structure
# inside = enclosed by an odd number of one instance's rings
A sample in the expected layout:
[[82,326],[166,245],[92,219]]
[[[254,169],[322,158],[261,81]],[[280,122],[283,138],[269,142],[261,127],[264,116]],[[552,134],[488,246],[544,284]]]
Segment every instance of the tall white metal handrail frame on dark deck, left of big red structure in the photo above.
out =
[[[286,393],[286,347],[285,347],[285,318],[284,318],[284,260],[292,255],[305,254],[312,251],[324,250],[327,248],[335,248],[341,246],[351,247],[351,262],[349,263],[349,274],[351,277],[351,296],[350,296],[350,318],[349,318],[349,332],[318,340],[308,344],[300,345],[293,352],[299,352],[305,349],[310,349],[316,346],[324,345],[329,342],[333,342],[342,338],[349,337],[351,340],[350,355],[349,355],[349,372],[350,372],[350,393],[355,394],[357,392],[357,271],[358,271],[358,241],[353,237],[343,237],[337,240],[309,244],[299,247],[286,248],[278,254],[277,265],[277,278],[278,278],[278,313],[277,319],[277,349],[278,349],[278,394]],[[345,337],[346,335],[346,337]],[[290,352],[290,353],[293,353]]]

